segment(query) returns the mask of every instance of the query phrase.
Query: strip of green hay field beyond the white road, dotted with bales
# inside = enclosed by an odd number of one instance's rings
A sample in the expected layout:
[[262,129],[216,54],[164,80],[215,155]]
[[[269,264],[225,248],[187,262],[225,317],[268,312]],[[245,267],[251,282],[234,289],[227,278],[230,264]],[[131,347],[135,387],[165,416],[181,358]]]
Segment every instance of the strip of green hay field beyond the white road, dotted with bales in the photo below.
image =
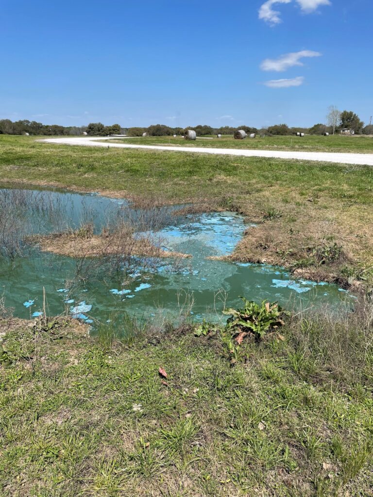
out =
[[133,143],[136,145],[172,145],[181,147],[210,147],[258,150],[292,150],[302,152],[351,152],[373,154],[373,137],[356,136],[257,136],[255,139],[235,140],[233,135],[222,135],[221,138],[211,135],[212,140],[197,138],[195,142],[184,140],[182,137],[140,137],[124,138],[115,141]]

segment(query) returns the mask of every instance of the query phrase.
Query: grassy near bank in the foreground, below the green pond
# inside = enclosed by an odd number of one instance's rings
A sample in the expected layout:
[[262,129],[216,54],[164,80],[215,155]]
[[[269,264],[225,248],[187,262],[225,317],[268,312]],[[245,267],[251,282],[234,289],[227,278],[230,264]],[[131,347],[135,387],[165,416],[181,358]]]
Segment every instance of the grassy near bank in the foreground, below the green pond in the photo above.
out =
[[1,496],[370,495],[366,312],[293,318],[235,361],[224,333],[111,332],[0,321]]

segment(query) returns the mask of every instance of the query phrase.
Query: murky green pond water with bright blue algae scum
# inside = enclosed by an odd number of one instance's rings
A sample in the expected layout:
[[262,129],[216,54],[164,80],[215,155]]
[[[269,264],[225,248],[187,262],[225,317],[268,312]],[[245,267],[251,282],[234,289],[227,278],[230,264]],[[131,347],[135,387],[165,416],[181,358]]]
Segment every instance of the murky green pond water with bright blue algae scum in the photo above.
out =
[[[335,285],[294,280],[280,268],[211,259],[232,253],[244,231],[255,229],[233,212],[183,215],[182,206],[136,209],[95,194],[18,188],[0,189],[0,207],[0,294],[20,318],[42,315],[44,291],[49,315],[67,312],[93,326],[126,313],[146,321],[182,313],[218,321],[224,307],[240,306],[240,296],[302,309],[351,302]],[[119,225],[126,227],[126,250],[113,250],[115,238],[107,238],[110,251],[85,252]],[[74,257],[27,238],[53,234],[58,245],[66,232],[82,240]],[[175,257],[139,254],[146,244]]]

